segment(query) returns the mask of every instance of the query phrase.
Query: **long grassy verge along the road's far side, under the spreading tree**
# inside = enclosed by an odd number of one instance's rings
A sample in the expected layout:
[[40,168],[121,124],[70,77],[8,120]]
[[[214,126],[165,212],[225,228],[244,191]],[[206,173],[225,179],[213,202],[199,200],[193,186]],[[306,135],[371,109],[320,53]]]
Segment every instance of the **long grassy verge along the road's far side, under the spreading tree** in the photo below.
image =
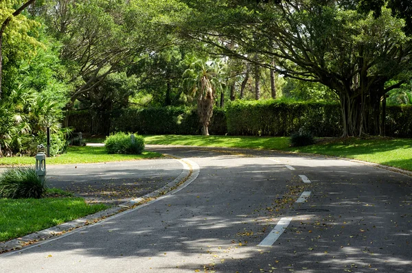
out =
[[353,158],[412,171],[412,139],[331,139],[307,147],[289,147],[288,137],[146,136],[146,144],[239,147],[306,152]]

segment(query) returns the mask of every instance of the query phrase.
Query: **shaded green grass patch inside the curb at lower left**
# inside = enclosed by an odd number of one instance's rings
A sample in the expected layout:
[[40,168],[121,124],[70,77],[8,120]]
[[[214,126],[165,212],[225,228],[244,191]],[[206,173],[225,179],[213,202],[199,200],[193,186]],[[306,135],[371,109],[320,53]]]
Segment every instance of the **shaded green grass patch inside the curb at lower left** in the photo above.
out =
[[60,189],[48,189],[47,198],[0,199],[0,241],[8,241],[51,226],[107,209],[105,204],[86,204]]

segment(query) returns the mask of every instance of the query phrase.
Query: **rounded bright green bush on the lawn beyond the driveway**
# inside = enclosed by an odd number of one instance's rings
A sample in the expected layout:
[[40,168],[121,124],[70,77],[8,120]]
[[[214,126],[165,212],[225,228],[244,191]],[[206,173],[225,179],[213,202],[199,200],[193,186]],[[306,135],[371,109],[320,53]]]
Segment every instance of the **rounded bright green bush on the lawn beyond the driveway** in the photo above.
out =
[[117,132],[106,137],[104,146],[108,154],[141,154],[144,150],[144,138],[135,135],[135,141],[132,142],[132,134]]

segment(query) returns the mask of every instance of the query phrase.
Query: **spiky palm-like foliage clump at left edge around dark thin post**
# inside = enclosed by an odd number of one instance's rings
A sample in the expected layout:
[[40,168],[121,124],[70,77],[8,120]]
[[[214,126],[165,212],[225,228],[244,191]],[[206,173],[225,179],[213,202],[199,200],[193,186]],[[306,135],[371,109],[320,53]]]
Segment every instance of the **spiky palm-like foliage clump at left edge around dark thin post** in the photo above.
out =
[[51,153],[64,152],[67,143],[60,119],[57,102],[23,86],[13,89],[0,101],[0,156],[35,154],[37,145],[46,144],[47,127],[53,134]]

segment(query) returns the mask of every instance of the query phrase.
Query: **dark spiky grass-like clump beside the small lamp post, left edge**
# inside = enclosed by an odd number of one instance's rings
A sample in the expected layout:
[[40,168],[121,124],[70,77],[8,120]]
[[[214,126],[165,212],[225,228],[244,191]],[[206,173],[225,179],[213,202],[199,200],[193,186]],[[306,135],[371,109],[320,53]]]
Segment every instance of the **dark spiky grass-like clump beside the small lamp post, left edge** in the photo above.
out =
[[0,175],[0,197],[2,198],[41,198],[47,187],[33,167],[7,169]]

